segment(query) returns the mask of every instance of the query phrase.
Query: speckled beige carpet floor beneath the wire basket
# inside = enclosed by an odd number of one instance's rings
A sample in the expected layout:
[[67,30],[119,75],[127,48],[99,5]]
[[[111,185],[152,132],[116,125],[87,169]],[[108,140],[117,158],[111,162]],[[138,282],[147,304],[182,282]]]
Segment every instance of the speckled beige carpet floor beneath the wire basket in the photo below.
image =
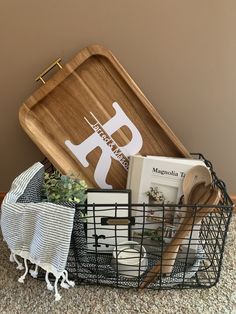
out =
[[6,244],[0,241],[0,313],[230,313],[236,314],[236,217],[227,238],[220,282],[207,290],[169,290],[142,293],[134,289],[77,286],[60,289],[62,299],[54,301],[43,281],[27,276],[17,282],[20,271],[9,262]]

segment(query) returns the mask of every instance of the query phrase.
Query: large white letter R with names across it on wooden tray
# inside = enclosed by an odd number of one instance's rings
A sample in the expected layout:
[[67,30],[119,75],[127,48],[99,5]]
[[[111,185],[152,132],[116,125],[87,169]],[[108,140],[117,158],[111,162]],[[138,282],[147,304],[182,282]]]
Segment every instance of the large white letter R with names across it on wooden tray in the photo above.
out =
[[[137,154],[143,145],[143,139],[136,128],[130,121],[125,112],[121,109],[117,102],[112,104],[115,109],[115,115],[103,125],[95,118],[96,123],[89,125],[93,128],[94,133],[90,135],[79,145],[72,144],[69,140],[65,141],[66,146],[72,151],[76,158],[81,162],[84,167],[88,167],[89,163],[86,159],[87,155],[96,147],[100,147],[102,154],[98,160],[94,179],[100,188],[112,188],[111,185],[106,183],[106,177],[109,172],[112,158],[118,160],[123,167],[128,170],[128,162],[125,161],[128,156]],[[122,126],[127,126],[131,133],[132,139],[129,143],[122,147],[118,147],[112,139],[112,134],[119,130]]]

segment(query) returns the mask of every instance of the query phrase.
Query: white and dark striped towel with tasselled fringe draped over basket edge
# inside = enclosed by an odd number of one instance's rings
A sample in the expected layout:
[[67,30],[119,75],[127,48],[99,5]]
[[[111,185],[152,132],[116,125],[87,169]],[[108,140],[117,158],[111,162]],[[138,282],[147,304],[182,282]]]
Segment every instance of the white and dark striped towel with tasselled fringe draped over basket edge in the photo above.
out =
[[[43,268],[47,288],[55,288],[55,299],[59,300],[58,280],[62,278],[64,288],[74,285],[68,280],[65,267],[75,209],[40,202],[43,174],[44,166],[38,162],[13,181],[2,203],[1,228],[11,251],[10,260],[17,263],[18,269],[23,269],[16,256],[24,259],[25,272],[18,281],[24,282],[29,260],[36,265],[31,275],[37,277],[38,267]],[[49,273],[56,278],[54,287],[48,279]]]

